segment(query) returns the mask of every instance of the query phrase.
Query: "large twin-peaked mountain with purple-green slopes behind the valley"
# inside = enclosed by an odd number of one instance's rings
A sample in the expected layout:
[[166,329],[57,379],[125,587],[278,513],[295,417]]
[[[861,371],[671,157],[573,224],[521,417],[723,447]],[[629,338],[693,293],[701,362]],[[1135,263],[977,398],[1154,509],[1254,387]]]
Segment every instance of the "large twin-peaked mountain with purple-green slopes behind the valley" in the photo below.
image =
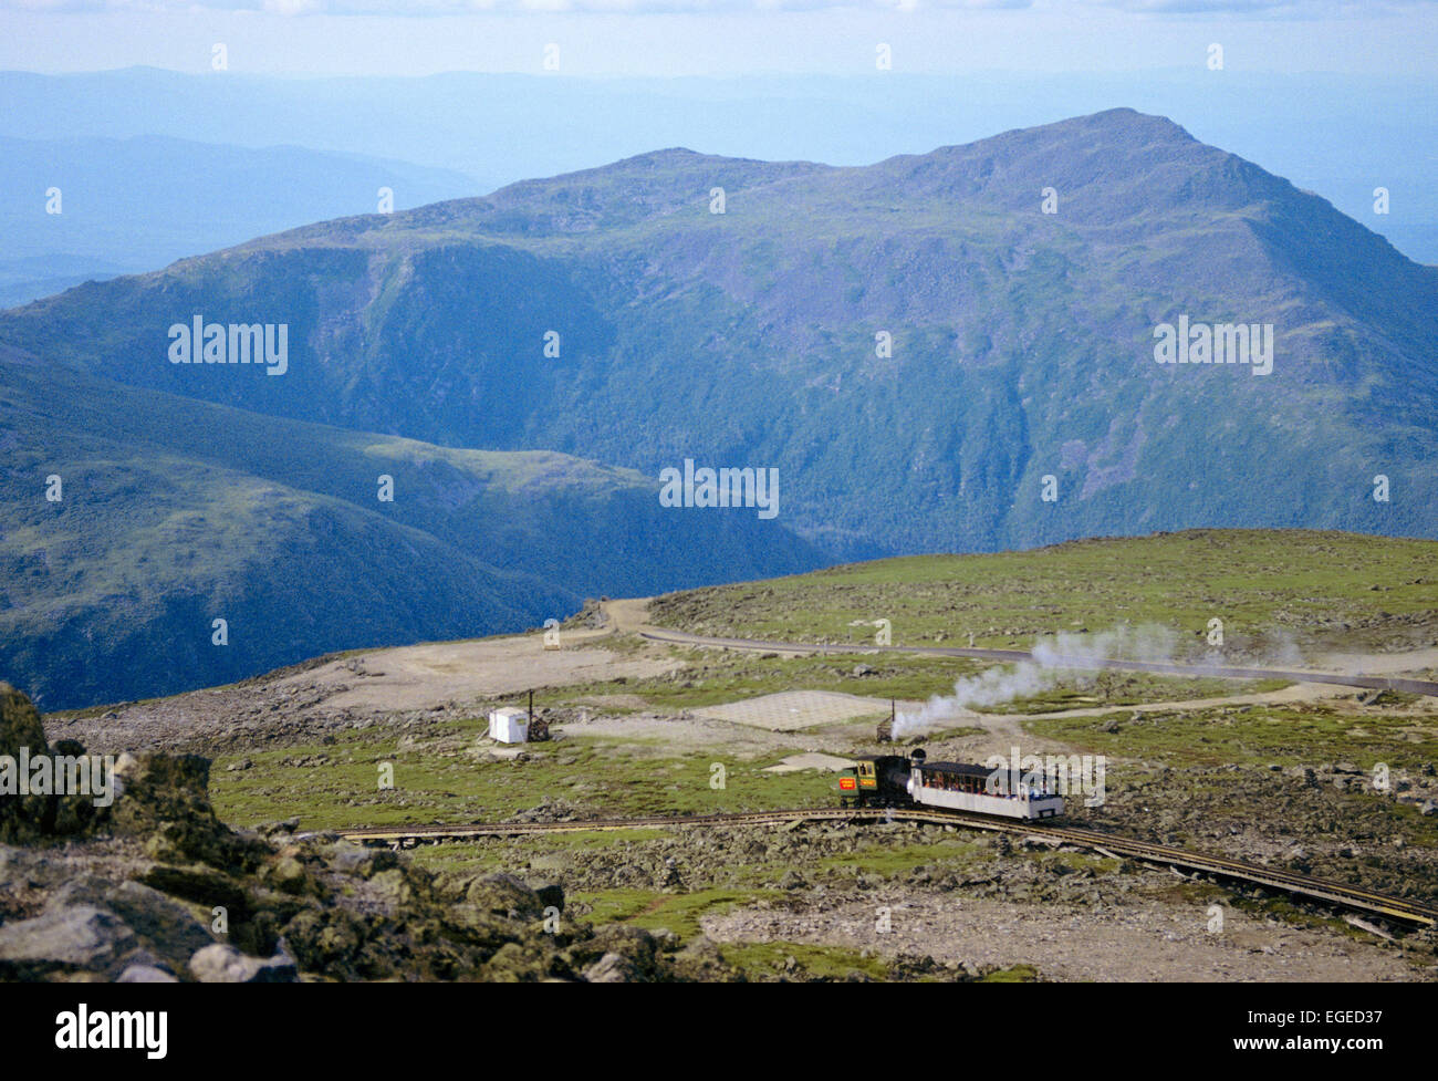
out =
[[[1431,535],[1435,309],[1438,272],[1324,200],[1119,109],[867,168],[660,151],[75,289],[0,341],[444,446],[777,467],[778,522],[853,556]],[[289,372],[168,364],[196,313],[288,322]],[[1155,364],[1183,315],[1273,323],[1273,372]]]

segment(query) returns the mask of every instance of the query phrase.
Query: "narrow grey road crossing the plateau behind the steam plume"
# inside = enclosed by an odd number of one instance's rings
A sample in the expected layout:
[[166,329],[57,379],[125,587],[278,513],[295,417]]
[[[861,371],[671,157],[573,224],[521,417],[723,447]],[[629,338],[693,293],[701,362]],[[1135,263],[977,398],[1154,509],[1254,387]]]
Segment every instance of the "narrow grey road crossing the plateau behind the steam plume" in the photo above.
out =
[[[764,641],[761,638],[716,638],[705,634],[687,634],[664,627],[638,627],[634,631],[641,638],[667,643],[670,645],[709,645],[720,650],[745,650],[765,653],[909,653],[923,657],[971,657],[988,661],[1031,661],[1034,654],[1027,650],[981,650],[956,645],[866,645]],[[1158,671],[1171,676],[1199,676],[1235,680],[1281,678],[1294,683],[1334,683],[1340,687],[1365,687],[1370,690],[1396,690],[1408,694],[1431,694],[1438,697],[1438,681],[1395,678],[1391,676],[1350,676],[1339,671],[1309,671],[1304,668],[1245,668],[1238,666],[1176,664],[1173,661],[1126,661],[1117,657],[1093,660],[1087,657],[1057,657],[1047,664],[1063,667],[1071,663],[1074,668],[1119,668],[1123,671]]]

